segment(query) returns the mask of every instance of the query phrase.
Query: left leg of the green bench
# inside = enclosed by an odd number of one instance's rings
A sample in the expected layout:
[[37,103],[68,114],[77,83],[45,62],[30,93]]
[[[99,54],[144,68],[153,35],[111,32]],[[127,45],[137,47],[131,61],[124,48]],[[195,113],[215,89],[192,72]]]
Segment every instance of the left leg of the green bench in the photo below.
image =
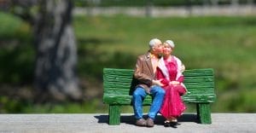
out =
[[111,125],[120,124],[120,106],[109,105],[108,124],[111,124]]

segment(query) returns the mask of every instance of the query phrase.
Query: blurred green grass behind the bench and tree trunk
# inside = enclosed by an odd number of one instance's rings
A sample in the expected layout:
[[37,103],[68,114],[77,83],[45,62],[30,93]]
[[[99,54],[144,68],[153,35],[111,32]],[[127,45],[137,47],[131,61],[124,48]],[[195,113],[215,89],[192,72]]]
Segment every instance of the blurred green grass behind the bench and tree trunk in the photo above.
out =
[[[0,83],[31,88],[35,52],[30,41],[30,26],[10,14],[0,14],[0,18],[0,23],[5,26],[0,26],[0,61],[4,64],[0,68]],[[102,68],[133,68],[137,55],[147,51],[151,38],[172,39],[176,43],[174,55],[187,69],[214,69],[217,101],[212,104],[212,112],[256,112],[253,104],[256,96],[253,81],[256,78],[254,16],[145,18],[79,15],[73,20],[78,43],[79,78],[86,100],[83,103],[44,105],[20,101],[2,112],[107,113],[108,106],[102,105],[101,99]],[[11,101],[8,96],[0,97],[0,103]],[[19,104],[23,106],[19,108]],[[15,107],[15,111],[11,111]],[[131,113],[131,107],[127,108],[123,112]],[[191,107],[188,112],[194,109]]]

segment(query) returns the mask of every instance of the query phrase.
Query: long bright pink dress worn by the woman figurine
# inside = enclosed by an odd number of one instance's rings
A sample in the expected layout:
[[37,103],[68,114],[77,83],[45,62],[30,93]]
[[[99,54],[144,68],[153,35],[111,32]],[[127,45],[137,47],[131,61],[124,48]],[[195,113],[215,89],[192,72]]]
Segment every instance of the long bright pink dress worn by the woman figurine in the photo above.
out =
[[172,61],[164,61],[166,66],[166,71],[169,73],[169,78],[163,74],[163,70],[157,67],[156,78],[163,79],[161,81],[164,84],[163,88],[166,90],[165,99],[163,101],[162,107],[160,108],[160,113],[166,118],[179,117],[186,109],[181,95],[186,93],[186,89],[182,84],[169,85],[171,81],[178,81],[183,83],[183,75],[177,77],[177,58],[172,57]]

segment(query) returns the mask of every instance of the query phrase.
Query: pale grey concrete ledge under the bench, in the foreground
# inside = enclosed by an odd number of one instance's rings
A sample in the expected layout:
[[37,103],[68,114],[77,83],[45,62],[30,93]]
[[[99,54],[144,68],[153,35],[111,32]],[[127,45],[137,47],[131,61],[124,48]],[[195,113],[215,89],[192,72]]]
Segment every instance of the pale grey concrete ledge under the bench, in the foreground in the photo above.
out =
[[121,114],[120,125],[108,125],[106,113],[0,114],[0,133],[125,133],[125,132],[255,132],[256,113],[212,113],[212,124],[198,124],[194,113],[178,119],[177,129],[165,128],[159,115],[154,128],[134,125],[132,113]]

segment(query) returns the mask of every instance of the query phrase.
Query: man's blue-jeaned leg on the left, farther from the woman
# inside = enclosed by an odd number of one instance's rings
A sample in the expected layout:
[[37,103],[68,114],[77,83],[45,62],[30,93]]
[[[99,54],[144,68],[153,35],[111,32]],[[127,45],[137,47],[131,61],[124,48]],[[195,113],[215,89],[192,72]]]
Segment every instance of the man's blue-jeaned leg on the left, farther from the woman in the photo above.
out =
[[142,87],[137,87],[132,95],[132,106],[136,119],[143,119],[143,99],[147,93]]

